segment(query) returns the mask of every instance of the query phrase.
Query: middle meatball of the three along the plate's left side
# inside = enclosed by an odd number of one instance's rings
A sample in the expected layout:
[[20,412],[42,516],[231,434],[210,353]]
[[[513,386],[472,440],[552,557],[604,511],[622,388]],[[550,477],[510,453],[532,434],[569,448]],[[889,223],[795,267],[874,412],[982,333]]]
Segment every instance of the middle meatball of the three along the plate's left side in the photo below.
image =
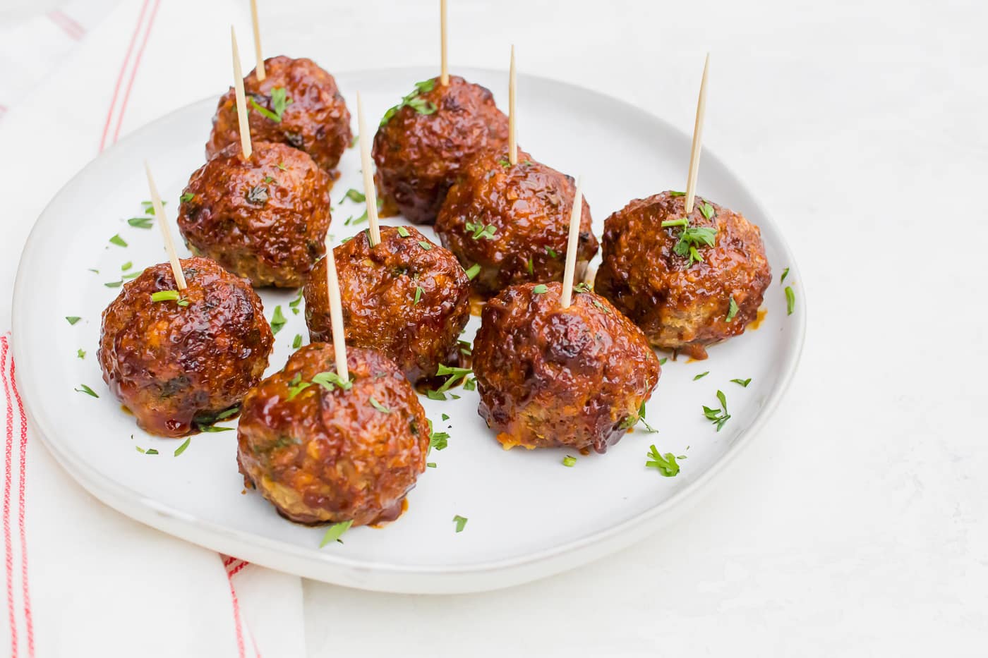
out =
[[249,160],[231,144],[192,175],[179,230],[195,254],[256,287],[298,288],[326,253],[329,175],[308,155],[257,142]]

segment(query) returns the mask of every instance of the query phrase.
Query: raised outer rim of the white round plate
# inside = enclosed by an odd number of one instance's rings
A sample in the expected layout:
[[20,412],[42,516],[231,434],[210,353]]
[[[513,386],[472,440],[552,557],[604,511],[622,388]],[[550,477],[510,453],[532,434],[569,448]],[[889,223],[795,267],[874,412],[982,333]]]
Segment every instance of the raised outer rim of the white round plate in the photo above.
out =
[[[337,77],[359,77],[362,75],[403,71],[408,72],[409,78],[413,78],[423,72],[429,74],[432,68],[424,66],[395,66],[386,68],[344,69],[334,73],[334,75]],[[504,71],[500,69],[481,67],[458,67],[457,71],[470,77],[474,77],[474,74],[480,74],[481,76],[504,74]],[[547,76],[525,73],[520,74],[519,77],[526,84],[557,85],[580,94],[603,97],[607,101],[624,106],[625,110],[635,113],[635,115],[645,122],[658,124],[665,130],[675,132],[689,139],[689,135],[674,124],[616,96]],[[669,496],[669,498],[638,515],[617,523],[617,525],[594,531],[589,535],[584,535],[576,539],[557,543],[548,548],[542,548],[504,559],[483,560],[476,563],[458,565],[404,565],[386,561],[358,561],[350,557],[334,555],[328,552],[313,553],[310,549],[286,541],[262,535],[253,535],[235,528],[215,524],[192,516],[180,509],[146,498],[130,487],[106,477],[95,468],[91,468],[84,461],[77,458],[66,444],[49,439],[48,435],[52,431],[45,414],[34,411],[36,408],[43,408],[39,404],[42,391],[39,385],[33,383],[35,378],[31,376],[30,368],[27,367],[31,364],[32,360],[31,355],[26,352],[25,341],[18,340],[18,336],[24,335],[28,331],[26,327],[26,324],[28,324],[28,314],[23,310],[25,298],[30,293],[28,289],[28,271],[32,268],[32,261],[34,260],[32,256],[43,252],[41,235],[44,232],[49,209],[56,202],[60,201],[61,197],[70,188],[74,187],[77,179],[85,175],[100,159],[108,157],[131,141],[143,138],[144,134],[153,131],[157,124],[173,120],[176,115],[188,112],[195,106],[215,103],[215,98],[215,96],[209,96],[177,108],[150,123],[145,123],[127,134],[110,148],[89,160],[45,204],[41,210],[41,214],[39,214],[32,226],[18,264],[12,302],[11,317],[13,331],[11,342],[13,344],[14,358],[26,366],[23,369],[18,369],[18,381],[21,384],[26,402],[25,406],[28,410],[31,423],[45,448],[73,479],[101,502],[125,516],[146,526],[170,535],[179,536],[187,541],[218,552],[228,552],[230,546],[227,545],[224,548],[223,544],[229,544],[231,542],[249,545],[251,547],[249,551],[244,550],[242,546],[238,545],[234,552],[239,553],[239,556],[246,556],[249,553],[249,561],[284,571],[284,565],[276,566],[277,560],[268,559],[269,555],[277,553],[280,557],[289,557],[291,559],[296,566],[292,572],[297,575],[304,575],[305,577],[346,587],[379,592],[416,594],[481,592],[512,587],[599,559],[636,542],[644,535],[658,530],[662,520],[673,516],[678,511],[684,511],[689,504],[696,502],[700,495],[710,488],[717,475],[737,459],[738,455],[752,443],[755,436],[772,417],[782,397],[788,390],[800,362],[805,343],[807,313],[805,286],[800,288],[800,303],[796,305],[792,315],[788,316],[787,321],[794,323],[794,326],[791,326],[790,332],[792,348],[787,352],[782,361],[777,384],[769,392],[764,403],[756,412],[751,424],[738,435],[737,439],[706,470],[682,489]],[[778,244],[782,257],[786,259],[787,267],[790,273],[792,273],[793,280],[798,279],[802,281],[799,278],[798,265],[779,223],[762,206],[757,196],[751,193],[751,188],[744,184],[743,179],[720,160],[715,152],[704,148],[703,157],[714,161],[743,190],[752,196],[754,207],[751,209],[755,210],[760,217],[764,218],[763,223],[771,224],[775,241]],[[206,535],[200,536],[200,534]],[[568,559],[564,559],[565,557],[568,557]],[[307,563],[311,563],[309,564],[311,568],[305,566]],[[320,572],[320,568],[327,569],[328,571]],[[351,573],[341,573],[340,570],[347,570]],[[534,571],[538,571],[538,573],[533,573]],[[371,580],[367,581],[367,576],[371,572]],[[437,576],[443,576],[444,579],[440,581],[436,579]],[[471,584],[462,582],[462,577],[465,576],[474,577]],[[431,587],[423,586],[424,579],[429,578],[436,580],[430,583],[432,585]]]

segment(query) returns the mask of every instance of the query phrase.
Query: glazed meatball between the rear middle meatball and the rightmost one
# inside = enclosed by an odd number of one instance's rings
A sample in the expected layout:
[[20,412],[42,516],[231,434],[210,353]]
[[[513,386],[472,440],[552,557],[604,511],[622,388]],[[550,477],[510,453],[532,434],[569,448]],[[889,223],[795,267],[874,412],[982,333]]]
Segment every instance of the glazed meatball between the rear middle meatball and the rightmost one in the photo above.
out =
[[[481,295],[528,282],[562,281],[576,186],[573,179],[519,151],[489,149],[468,160],[436,218],[436,232],[464,268],[479,266]],[[597,253],[590,206],[583,200],[576,277]]]

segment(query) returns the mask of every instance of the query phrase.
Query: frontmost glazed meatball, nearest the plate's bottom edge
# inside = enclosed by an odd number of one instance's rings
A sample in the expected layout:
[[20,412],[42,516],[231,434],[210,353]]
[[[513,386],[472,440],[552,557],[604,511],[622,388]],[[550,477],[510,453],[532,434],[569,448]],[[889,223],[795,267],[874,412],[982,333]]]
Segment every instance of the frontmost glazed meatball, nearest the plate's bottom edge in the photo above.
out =
[[244,481],[291,521],[393,521],[426,469],[429,422],[412,385],[373,350],[313,343],[251,389],[237,429]]

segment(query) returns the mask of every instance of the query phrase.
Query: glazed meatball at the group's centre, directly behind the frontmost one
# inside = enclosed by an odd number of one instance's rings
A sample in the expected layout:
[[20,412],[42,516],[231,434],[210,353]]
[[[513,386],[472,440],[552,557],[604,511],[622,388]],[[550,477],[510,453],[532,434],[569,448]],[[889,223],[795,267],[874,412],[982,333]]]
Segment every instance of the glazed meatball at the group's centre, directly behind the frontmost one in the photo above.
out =
[[[380,227],[333,249],[347,345],[379,350],[413,383],[455,366],[457,337],[470,316],[469,282],[446,249],[409,227]],[[305,322],[313,342],[332,342],[325,259],[305,285]]]

